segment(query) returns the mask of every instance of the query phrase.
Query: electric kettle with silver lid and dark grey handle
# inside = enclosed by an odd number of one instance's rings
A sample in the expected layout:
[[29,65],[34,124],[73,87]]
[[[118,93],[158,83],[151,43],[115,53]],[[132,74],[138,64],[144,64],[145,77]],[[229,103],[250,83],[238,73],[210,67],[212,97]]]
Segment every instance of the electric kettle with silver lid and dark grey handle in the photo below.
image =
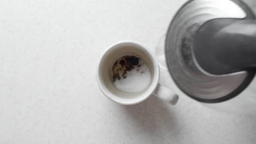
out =
[[256,114],[256,1],[190,0],[165,38],[172,80],[216,110]]

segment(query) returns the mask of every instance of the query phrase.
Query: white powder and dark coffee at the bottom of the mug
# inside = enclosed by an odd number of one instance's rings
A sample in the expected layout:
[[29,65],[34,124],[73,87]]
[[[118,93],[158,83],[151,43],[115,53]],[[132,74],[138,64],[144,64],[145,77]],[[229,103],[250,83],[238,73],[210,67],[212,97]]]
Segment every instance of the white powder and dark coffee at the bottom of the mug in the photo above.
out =
[[151,73],[147,63],[135,56],[119,58],[114,63],[112,71],[115,87],[123,92],[142,92],[151,82]]

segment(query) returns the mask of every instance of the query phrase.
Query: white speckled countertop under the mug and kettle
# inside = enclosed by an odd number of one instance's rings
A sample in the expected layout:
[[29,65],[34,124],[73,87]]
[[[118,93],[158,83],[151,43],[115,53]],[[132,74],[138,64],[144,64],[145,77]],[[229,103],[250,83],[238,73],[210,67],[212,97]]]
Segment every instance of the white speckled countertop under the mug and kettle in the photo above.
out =
[[184,95],[121,106],[98,88],[103,50],[120,40],[154,50],[184,2],[1,1],[0,143],[256,143],[256,116]]

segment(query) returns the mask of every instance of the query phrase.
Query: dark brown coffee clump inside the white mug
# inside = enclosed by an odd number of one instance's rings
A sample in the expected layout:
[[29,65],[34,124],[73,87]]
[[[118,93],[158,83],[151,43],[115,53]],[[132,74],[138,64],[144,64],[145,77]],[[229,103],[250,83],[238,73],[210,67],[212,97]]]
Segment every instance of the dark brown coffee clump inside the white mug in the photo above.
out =
[[[128,71],[131,71],[135,68],[137,65],[138,67],[141,67],[141,64],[139,62],[141,61],[140,58],[135,56],[124,56],[119,58],[113,65],[112,71],[113,71],[113,81],[120,80],[121,76],[126,79],[126,74]],[[138,70],[137,70],[138,71]]]

